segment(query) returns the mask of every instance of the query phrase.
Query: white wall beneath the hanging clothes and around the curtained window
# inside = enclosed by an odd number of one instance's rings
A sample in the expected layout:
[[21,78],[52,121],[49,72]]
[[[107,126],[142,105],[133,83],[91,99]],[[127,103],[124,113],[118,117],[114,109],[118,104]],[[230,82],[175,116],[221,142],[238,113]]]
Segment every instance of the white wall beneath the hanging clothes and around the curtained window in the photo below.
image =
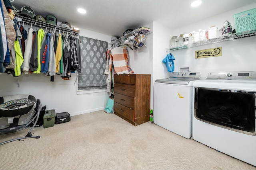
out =
[[[107,42],[111,41],[110,35],[86,29],[80,29],[79,35]],[[62,80],[60,75],[56,75],[54,76],[54,82],[50,82],[50,76],[42,74],[22,74],[18,79],[19,88],[16,77],[0,74],[0,96],[30,94],[35,98],[39,98],[42,106],[46,105],[47,110],[55,109],[56,113],[67,111],[72,116],[103,110],[106,98],[108,98],[106,92],[77,94],[76,74],[72,74],[71,80]]]

